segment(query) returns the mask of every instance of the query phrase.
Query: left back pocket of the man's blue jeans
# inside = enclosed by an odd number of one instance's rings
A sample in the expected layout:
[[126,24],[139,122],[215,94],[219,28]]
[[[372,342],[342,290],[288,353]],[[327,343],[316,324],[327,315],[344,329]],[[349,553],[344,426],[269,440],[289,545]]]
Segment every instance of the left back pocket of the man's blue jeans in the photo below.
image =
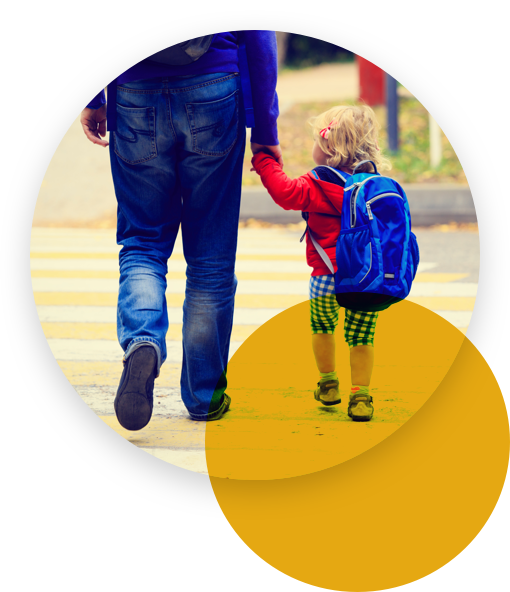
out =
[[117,104],[117,131],[112,132],[115,154],[128,164],[155,158],[155,120],[154,107],[123,107]]

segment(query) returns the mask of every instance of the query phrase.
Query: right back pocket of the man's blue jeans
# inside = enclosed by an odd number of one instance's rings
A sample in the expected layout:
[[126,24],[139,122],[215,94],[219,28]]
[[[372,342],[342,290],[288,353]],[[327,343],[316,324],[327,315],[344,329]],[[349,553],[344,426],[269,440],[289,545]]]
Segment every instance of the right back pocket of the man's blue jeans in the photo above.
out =
[[237,141],[239,93],[206,103],[186,103],[193,151],[204,156],[225,156]]

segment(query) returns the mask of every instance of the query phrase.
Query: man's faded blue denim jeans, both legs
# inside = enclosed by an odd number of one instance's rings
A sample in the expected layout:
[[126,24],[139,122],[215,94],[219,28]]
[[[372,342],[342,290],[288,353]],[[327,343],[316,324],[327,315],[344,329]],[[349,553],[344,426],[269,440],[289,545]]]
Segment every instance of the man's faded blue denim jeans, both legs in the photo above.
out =
[[124,361],[150,343],[167,357],[167,261],[186,259],[181,396],[195,420],[223,402],[246,147],[238,74],[157,78],[117,89],[110,160],[118,201],[117,332]]

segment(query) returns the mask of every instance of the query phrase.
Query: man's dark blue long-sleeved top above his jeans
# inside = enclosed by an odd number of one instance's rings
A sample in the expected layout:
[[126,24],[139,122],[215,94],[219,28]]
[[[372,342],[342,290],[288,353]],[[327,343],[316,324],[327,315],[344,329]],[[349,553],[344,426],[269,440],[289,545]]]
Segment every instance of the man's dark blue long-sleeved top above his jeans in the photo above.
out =
[[[255,125],[251,141],[275,146],[278,144],[278,76],[276,31],[221,31],[216,33],[200,59],[185,66],[169,66],[146,59],[128,68],[116,77],[117,85],[158,76],[189,76],[220,72],[239,72],[238,39],[244,34],[246,57],[250,74]],[[104,89],[86,106],[97,109],[106,103]]]

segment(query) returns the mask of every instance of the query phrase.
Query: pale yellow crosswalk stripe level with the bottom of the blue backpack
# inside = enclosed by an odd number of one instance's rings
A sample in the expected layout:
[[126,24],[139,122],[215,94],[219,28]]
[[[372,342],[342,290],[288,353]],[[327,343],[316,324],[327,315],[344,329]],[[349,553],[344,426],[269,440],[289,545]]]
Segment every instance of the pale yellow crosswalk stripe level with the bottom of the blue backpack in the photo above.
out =
[[[117,294],[103,292],[35,292],[36,305],[45,306],[117,306]],[[236,308],[286,309],[304,302],[300,294],[238,294]],[[408,300],[430,310],[473,310],[476,298],[472,296],[416,296]],[[180,308],[184,294],[167,294],[167,305]]]

